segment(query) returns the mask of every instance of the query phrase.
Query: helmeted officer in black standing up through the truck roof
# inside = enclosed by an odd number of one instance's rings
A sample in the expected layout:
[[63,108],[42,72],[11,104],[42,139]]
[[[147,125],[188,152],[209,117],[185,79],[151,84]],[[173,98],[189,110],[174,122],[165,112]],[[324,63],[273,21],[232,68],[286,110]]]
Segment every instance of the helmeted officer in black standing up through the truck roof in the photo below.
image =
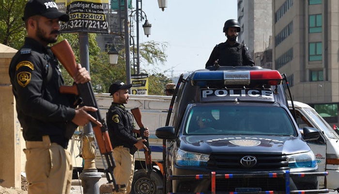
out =
[[216,63],[220,66],[253,66],[254,61],[248,54],[246,45],[236,41],[240,26],[236,19],[229,19],[225,22],[223,32],[227,36],[224,43],[216,45],[212,50],[207,66],[213,66]]

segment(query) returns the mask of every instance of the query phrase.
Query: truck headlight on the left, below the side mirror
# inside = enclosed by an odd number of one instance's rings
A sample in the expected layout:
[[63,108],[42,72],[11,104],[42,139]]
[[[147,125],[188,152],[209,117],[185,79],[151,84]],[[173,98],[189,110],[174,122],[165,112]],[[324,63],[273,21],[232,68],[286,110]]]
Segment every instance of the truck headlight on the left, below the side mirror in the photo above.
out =
[[186,152],[178,149],[175,153],[175,163],[179,166],[206,166],[209,155]]

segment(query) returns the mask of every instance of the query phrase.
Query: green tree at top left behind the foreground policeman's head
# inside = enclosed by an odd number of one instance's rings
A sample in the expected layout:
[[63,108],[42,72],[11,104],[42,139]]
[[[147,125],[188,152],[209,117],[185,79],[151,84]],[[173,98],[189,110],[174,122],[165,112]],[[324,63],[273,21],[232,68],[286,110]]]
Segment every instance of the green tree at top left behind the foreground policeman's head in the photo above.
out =
[[22,20],[27,0],[0,1],[0,42],[19,49],[26,35],[25,23]]

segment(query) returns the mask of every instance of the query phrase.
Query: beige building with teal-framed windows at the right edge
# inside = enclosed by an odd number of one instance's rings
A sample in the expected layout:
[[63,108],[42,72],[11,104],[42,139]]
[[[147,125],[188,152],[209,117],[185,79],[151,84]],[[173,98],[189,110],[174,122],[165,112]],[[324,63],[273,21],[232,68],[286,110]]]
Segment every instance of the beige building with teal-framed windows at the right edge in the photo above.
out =
[[272,0],[273,68],[293,99],[338,124],[339,1]]

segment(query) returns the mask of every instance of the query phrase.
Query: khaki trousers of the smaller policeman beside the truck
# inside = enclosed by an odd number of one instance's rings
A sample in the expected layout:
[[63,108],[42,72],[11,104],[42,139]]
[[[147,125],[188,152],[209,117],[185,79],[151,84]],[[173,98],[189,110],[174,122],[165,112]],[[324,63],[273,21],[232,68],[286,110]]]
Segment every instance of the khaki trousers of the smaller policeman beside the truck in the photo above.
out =
[[113,171],[116,183],[126,185],[118,193],[113,192],[113,194],[129,194],[134,175],[134,156],[129,153],[129,148],[118,146],[113,149],[113,158],[116,165]]

